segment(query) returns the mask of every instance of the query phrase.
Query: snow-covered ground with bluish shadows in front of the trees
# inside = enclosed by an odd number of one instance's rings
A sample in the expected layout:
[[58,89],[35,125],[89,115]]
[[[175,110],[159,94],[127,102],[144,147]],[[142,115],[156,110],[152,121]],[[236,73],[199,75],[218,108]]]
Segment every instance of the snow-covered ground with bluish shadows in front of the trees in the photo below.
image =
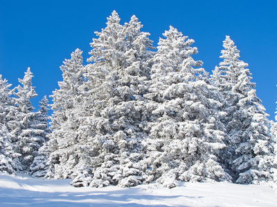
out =
[[134,188],[74,188],[70,179],[0,175],[0,206],[277,206],[266,186],[223,183],[159,184]]

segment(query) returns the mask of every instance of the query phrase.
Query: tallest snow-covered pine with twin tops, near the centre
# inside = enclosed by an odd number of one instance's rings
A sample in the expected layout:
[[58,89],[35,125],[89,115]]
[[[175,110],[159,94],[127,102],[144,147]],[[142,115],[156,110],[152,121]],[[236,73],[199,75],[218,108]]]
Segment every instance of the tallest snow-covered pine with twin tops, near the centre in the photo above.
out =
[[86,83],[91,107],[80,128],[87,132],[93,170],[90,177],[76,177],[73,186],[136,186],[145,180],[141,141],[147,137],[148,112],[143,94],[152,41],[135,16],[124,26],[115,11],[107,20],[91,43],[88,61],[94,63],[87,66]]

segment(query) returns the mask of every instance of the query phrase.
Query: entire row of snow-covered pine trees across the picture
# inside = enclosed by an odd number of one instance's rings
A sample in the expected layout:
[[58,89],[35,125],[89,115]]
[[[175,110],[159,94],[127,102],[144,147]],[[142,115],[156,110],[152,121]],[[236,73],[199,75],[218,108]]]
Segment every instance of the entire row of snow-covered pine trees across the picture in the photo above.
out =
[[135,16],[121,25],[112,12],[88,63],[72,52],[53,103],[44,97],[37,112],[30,68],[13,89],[0,77],[0,172],[70,178],[78,187],[274,186],[277,126],[230,37],[209,75],[193,59],[193,39],[170,26],[154,50],[142,27]]

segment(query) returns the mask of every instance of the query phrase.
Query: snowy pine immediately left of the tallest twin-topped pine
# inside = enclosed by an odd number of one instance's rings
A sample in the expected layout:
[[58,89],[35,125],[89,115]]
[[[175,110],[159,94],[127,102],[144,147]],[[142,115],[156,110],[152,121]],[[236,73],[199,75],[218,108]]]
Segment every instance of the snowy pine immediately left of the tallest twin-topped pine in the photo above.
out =
[[84,82],[84,66],[82,66],[82,51],[76,49],[71,53],[71,59],[65,59],[62,70],[62,81],[58,82],[60,89],[53,91],[53,116],[51,132],[48,141],[49,170],[47,178],[74,178],[82,166],[84,152],[82,137],[78,135],[79,116],[82,113],[82,94],[79,90]]

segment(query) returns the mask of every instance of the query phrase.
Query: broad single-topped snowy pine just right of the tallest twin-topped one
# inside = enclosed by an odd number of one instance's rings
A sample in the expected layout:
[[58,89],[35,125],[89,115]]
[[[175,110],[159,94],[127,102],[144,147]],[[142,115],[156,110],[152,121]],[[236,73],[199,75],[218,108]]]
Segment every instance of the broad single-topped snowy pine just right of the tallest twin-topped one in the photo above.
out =
[[218,92],[208,81],[202,61],[191,55],[197,48],[170,26],[152,59],[150,91],[145,97],[152,111],[148,139],[148,174],[168,188],[177,180],[230,180],[218,163],[224,131],[218,119]]

